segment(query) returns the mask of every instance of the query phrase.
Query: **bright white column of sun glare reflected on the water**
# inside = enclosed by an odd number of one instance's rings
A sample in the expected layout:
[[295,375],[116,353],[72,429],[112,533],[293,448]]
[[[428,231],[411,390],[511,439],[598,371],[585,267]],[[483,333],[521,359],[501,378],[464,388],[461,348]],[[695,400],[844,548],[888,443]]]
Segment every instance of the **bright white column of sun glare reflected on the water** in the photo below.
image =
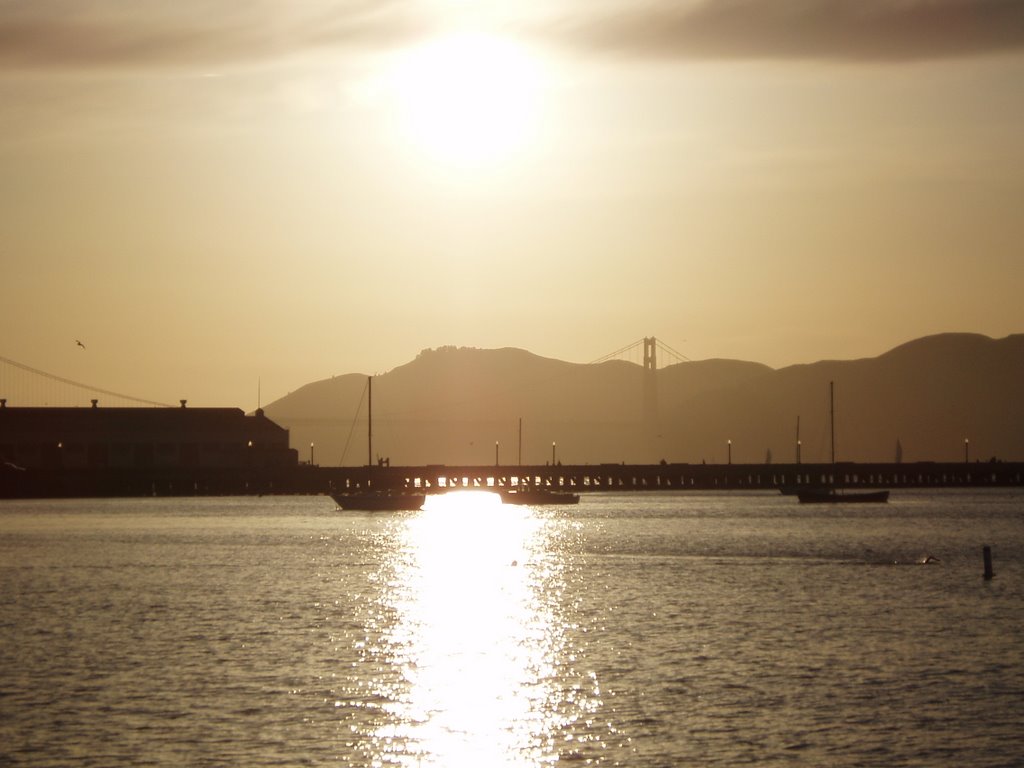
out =
[[407,685],[377,733],[384,762],[557,762],[565,638],[548,599],[545,525],[529,508],[470,492],[430,498],[404,521],[387,642]]

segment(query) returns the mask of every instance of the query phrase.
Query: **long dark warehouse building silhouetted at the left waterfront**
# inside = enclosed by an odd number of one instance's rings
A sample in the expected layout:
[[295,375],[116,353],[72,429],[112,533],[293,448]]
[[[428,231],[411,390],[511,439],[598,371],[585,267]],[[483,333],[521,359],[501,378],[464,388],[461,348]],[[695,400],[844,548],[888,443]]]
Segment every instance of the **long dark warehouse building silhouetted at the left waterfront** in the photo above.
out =
[[255,493],[297,466],[288,430],[262,411],[0,399],[0,497]]

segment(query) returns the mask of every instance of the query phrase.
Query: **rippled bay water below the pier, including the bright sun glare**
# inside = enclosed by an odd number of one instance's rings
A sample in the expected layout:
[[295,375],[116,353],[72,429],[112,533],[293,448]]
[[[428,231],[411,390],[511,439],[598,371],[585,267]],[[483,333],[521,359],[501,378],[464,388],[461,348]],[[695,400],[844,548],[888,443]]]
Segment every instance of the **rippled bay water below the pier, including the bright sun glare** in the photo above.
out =
[[1024,763],[1019,493],[431,504],[0,503],[0,765]]

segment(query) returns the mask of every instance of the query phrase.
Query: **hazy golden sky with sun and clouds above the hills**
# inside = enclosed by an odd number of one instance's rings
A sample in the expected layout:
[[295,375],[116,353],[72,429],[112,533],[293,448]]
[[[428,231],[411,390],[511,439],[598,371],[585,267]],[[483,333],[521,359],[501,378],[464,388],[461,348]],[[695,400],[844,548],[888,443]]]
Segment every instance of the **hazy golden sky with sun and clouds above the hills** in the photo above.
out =
[[1020,0],[0,0],[0,355],[161,401],[1024,331]]

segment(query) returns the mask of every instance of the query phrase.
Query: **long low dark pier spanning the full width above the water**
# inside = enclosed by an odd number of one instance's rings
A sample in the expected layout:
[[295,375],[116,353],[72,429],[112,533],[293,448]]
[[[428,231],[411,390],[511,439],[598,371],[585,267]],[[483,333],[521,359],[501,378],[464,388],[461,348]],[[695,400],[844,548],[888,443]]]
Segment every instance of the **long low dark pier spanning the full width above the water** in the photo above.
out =
[[0,498],[246,496],[392,488],[445,493],[517,485],[590,493],[1018,487],[1024,463],[597,464],[420,467],[42,467],[0,470]]

